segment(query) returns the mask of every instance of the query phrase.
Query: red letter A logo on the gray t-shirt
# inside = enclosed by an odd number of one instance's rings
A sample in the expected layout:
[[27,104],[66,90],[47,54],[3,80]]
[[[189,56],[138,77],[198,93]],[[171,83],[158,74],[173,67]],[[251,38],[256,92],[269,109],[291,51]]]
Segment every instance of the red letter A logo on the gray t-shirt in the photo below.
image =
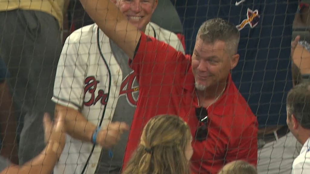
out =
[[135,72],[132,71],[129,73],[121,84],[121,90],[119,96],[126,96],[127,102],[135,107],[138,101],[138,92],[139,92],[139,85],[137,85]]

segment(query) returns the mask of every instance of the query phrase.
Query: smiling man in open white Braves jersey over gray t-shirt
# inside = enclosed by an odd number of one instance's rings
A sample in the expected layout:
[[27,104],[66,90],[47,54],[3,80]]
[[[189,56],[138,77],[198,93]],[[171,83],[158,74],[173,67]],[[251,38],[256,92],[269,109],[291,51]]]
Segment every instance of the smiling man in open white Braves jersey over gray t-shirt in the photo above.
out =
[[[184,53],[175,33],[150,22],[157,0],[113,2],[109,3],[119,8],[119,15],[125,16],[129,24]],[[66,39],[52,101],[56,110],[66,115],[65,128],[70,137],[54,174],[111,174],[122,170],[139,95],[139,79],[128,66],[129,60],[96,24],[78,29]]]

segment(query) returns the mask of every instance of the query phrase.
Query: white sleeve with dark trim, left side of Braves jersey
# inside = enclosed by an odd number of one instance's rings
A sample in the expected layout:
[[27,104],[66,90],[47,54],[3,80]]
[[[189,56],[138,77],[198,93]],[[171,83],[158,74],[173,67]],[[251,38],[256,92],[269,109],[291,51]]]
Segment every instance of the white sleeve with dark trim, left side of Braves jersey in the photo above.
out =
[[58,61],[52,97],[52,101],[56,104],[76,110],[80,110],[83,105],[84,77],[87,68],[87,61],[83,61],[83,55],[79,54],[78,49],[81,45],[80,40],[74,36],[67,37]]

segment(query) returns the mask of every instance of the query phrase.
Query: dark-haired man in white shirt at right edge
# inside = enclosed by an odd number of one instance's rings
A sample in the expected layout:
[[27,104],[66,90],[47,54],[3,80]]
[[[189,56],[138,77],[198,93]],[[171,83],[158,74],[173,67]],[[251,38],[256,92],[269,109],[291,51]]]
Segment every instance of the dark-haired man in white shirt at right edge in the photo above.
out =
[[290,132],[303,145],[294,159],[292,174],[310,173],[310,82],[294,86],[286,98],[287,125]]

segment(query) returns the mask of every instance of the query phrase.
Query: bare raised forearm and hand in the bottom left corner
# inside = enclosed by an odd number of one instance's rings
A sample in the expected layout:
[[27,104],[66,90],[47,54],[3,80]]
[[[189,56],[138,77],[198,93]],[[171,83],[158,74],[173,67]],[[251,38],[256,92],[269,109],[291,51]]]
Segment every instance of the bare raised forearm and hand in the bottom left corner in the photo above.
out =
[[53,126],[48,115],[43,119],[47,145],[38,156],[22,166],[11,165],[0,174],[50,174],[57,163],[65,144],[64,116],[60,115]]

